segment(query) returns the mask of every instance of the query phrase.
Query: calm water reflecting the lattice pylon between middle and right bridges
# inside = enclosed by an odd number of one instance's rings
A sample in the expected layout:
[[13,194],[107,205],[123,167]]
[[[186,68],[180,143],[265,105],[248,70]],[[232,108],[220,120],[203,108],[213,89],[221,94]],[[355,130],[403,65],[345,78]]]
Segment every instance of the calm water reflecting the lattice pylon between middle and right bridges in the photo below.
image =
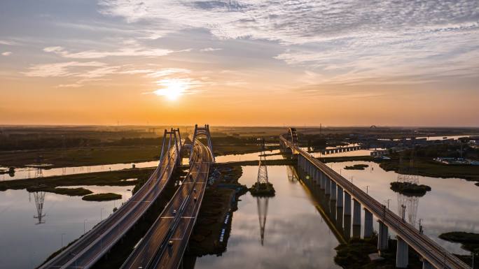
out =
[[[256,166],[243,167],[240,182],[251,185],[257,174]],[[195,268],[339,268],[333,261],[338,240],[303,186],[288,180],[285,166],[269,166],[268,174],[277,195],[268,202],[264,245],[256,198],[245,194],[232,218],[227,251],[197,259]]]

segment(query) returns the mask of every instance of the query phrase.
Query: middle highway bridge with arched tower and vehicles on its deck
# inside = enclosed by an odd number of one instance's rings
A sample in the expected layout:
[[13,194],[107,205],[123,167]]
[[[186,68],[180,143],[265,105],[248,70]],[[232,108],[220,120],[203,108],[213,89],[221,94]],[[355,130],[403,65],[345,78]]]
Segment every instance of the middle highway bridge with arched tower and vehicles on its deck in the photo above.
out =
[[[197,140],[199,134],[207,136],[209,146]],[[121,268],[179,268],[201,207],[209,165],[213,162],[209,127],[195,126],[190,170],[185,180]]]

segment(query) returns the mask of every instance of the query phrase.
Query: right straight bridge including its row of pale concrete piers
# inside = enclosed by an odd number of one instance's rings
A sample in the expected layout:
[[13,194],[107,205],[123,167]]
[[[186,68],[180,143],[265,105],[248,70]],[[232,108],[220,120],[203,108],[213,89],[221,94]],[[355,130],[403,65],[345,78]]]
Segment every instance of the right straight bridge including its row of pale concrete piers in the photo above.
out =
[[[470,268],[436,242],[433,242],[414,226],[394,214],[386,205],[377,202],[352,182],[345,179],[335,170],[329,168],[318,159],[302,150],[297,140],[296,129],[289,129],[289,135],[279,136],[280,143],[293,154],[298,154],[298,167],[306,171],[311,179],[323,189],[330,201],[335,201],[335,206],[342,208],[344,217],[351,217],[353,226],[361,226],[361,205],[364,210],[364,236],[373,235],[373,216],[379,222],[377,249],[380,251],[388,248],[389,229],[396,233],[397,251],[396,267],[408,267],[408,248],[412,247],[422,256],[423,268]],[[353,208],[352,208],[353,205]],[[353,210],[352,210],[353,209]],[[353,228],[354,231],[354,228]]]

